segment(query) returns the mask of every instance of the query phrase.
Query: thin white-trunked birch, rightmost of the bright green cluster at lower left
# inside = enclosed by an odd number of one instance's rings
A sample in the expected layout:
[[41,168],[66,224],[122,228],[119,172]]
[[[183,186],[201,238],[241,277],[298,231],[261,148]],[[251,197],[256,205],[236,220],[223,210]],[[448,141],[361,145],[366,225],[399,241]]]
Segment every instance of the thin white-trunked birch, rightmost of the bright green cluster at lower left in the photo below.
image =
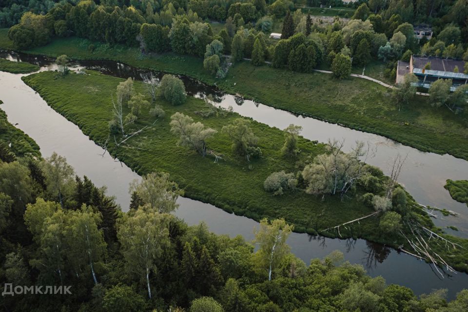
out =
[[94,284],[98,284],[95,265],[101,263],[106,254],[106,243],[102,230],[98,230],[101,223],[100,213],[93,212],[91,207],[83,204],[80,210],[68,212],[68,224],[65,235],[68,246],[68,259],[81,272],[89,265]]

